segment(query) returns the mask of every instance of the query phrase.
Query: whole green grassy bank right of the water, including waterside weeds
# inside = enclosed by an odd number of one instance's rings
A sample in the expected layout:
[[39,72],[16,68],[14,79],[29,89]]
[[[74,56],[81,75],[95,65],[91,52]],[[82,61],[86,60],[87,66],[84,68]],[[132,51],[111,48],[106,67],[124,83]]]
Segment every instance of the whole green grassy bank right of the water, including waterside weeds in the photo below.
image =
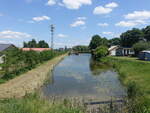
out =
[[[103,63],[111,64],[127,88],[129,113],[150,112],[150,62],[130,57],[105,57]],[[145,111],[145,112],[144,112]]]

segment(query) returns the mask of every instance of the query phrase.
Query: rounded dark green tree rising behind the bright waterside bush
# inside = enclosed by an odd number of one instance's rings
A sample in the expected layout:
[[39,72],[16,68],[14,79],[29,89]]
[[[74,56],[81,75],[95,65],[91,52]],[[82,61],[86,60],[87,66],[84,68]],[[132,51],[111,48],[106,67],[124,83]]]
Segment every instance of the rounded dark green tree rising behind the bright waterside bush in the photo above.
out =
[[89,44],[89,48],[93,50],[102,45],[108,46],[108,40],[106,38],[101,38],[99,35],[94,35]]

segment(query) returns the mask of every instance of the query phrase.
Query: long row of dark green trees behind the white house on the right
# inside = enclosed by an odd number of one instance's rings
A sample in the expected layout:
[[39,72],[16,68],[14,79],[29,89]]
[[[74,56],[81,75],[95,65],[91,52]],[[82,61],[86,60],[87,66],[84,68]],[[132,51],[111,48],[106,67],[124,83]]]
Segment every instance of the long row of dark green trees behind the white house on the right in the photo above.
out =
[[[109,48],[113,45],[120,45],[122,47],[133,48],[135,51],[135,55],[138,55],[142,50],[150,49],[150,26],[147,26],[143,29],[133,28],[132,30],[128,30],[120,35],[120,37],[113,38],[108,40],[107,38],[103,38],[99,35],[94,35],[89,44],[90,50],[96,50],[96,48]],[[97,49],[98,51],[98,49]],[[99,53],[99,52],[97,52]],[[105,52],[106,53],[106,52]],[[103,55],[102,55],[103,56]]]

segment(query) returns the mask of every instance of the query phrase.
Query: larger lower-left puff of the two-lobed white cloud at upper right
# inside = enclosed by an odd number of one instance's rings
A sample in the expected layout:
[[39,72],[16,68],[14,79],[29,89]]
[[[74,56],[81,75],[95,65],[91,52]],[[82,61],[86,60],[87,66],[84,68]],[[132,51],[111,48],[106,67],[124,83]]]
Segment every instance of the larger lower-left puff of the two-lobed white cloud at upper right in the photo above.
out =
[[111,8],[107,8],[107,7],[103,7],[103,6],[98,6],[93,11],[93,13],[96,14],[96,15],[99,15],[99,14],[108,14],[110,12],[112,12]]

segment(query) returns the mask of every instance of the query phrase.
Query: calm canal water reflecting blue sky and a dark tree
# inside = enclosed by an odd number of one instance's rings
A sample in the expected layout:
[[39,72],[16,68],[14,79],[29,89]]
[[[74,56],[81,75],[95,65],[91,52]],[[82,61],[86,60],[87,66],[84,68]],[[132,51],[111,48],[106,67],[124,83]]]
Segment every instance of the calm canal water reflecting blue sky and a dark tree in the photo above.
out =
[[44,96],[88,97],[108,100],[125,96],[118,74],[109,66],[98,65],[90,54],[67,56],[53,70],[42,87]]

